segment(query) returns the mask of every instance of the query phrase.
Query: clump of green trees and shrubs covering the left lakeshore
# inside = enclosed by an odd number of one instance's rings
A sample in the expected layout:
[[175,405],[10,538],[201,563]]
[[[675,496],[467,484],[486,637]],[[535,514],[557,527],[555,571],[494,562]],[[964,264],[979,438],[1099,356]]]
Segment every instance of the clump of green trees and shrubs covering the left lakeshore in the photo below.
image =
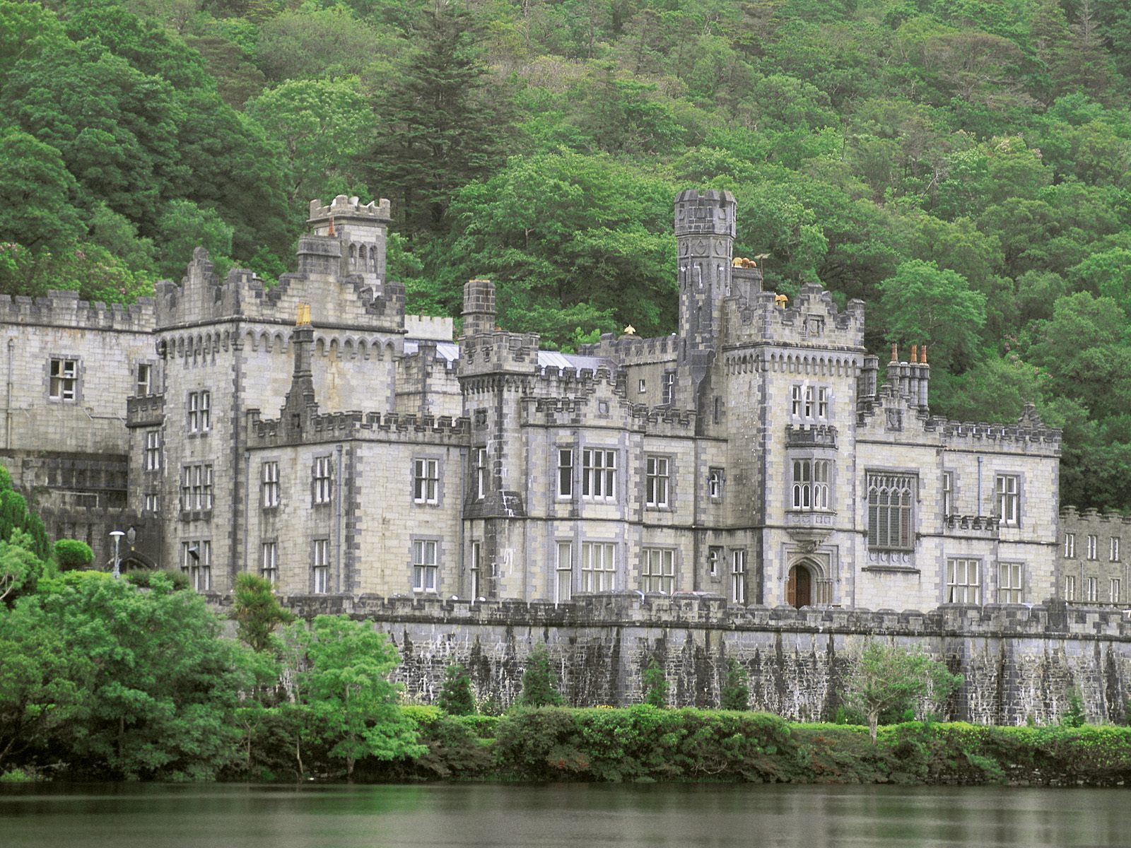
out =
[[0,467],[0,775],[348,778],[359,760],[426,752],[388,680],[400,658],[370,622],[323,615],[280,638],[294,616],[244,574],[241,643],[180,572],[80,570],[89,547],[37,545],[38,518],[6,494]]

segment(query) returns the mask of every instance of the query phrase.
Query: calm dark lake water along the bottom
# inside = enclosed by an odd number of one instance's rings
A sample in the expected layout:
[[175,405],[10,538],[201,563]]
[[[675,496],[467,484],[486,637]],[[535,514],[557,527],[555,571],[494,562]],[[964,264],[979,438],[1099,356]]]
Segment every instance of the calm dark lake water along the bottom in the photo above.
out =
[[1131,846],[1128,789],[0,786],[3,848]]

